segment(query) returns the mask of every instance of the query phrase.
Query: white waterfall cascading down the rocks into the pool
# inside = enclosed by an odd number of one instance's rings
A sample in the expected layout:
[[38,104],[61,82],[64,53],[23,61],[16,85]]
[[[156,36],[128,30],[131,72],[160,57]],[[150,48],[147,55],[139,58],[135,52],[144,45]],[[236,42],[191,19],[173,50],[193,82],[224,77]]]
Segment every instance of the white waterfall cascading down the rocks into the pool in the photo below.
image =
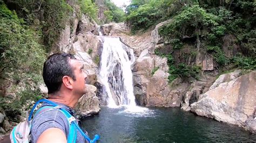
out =
[[133,62],[132,49],[119,38],[104,37],[99,80],[103,84],[108,106],[136,106],[131,71]]

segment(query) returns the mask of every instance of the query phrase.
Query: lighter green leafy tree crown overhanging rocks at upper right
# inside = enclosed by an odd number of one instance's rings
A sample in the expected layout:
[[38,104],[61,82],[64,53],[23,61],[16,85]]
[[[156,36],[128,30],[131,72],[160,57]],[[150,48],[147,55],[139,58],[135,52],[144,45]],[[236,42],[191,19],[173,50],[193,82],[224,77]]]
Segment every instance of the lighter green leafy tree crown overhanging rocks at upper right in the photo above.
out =
[[211,29],[218,25],[217,16],[207,13],[199,5],[193,5],[173,17],[173,22],[160,28],[160,35],[165,39],[193,37],[199,34],[204,27]]

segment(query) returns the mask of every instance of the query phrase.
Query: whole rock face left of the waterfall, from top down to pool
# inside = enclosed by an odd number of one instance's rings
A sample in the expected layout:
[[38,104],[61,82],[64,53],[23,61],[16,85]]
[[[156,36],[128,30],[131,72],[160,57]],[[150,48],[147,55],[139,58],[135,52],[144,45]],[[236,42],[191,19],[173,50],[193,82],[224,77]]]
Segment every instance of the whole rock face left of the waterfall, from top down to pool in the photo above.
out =
[[[99,113],[99,100],[96,96],[99,55],[101,55],[103,40],[98,33],[98,25],[89,17],[82,15],[79,20],[74,14],[71,26],[69,22],[60,34],[58,47],[60,52],[75,54],[76,59],[85,67],[87,93],[79,99],[76,106],[77,117],[84,118]],[[54,51],[53,51],[54,52]],[[90,85],[92,84],[92,85]]]

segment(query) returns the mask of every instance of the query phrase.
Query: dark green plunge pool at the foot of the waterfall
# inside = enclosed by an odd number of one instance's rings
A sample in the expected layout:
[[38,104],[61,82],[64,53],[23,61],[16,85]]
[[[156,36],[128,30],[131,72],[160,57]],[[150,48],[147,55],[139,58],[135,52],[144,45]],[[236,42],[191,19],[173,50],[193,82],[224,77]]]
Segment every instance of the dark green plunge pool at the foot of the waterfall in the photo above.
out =
[[[243,128],[195,116],[179,108],[143,108],[132,112],[126,106],[101,106],[98,116],[82,125],[99,142],[255,142],[256,135]],[[137,110],[137,109],[135,109]]]

